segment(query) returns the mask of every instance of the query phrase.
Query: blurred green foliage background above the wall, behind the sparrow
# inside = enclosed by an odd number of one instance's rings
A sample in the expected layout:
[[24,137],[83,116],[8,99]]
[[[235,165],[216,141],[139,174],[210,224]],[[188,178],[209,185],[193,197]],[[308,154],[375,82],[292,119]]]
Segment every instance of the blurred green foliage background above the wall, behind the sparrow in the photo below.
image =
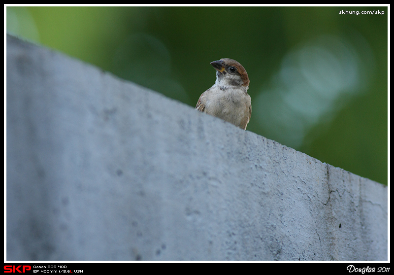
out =
[[192,107],[215,82],[209,63],[235,59],[250,78],[248,131],[388,183],[387,6],[8,6],[6,16],[11,34]]

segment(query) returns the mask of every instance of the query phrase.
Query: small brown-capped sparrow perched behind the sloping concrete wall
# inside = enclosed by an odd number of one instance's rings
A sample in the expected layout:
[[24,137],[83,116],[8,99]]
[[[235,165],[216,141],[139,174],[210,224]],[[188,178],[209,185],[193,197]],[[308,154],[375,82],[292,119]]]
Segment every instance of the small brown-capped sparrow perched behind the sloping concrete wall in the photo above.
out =
[[252,114],[248,73],[239,62],[230,58],[222,58],[210,64],[216,69],[216,81],[202,93],[196,110],[246,130]]

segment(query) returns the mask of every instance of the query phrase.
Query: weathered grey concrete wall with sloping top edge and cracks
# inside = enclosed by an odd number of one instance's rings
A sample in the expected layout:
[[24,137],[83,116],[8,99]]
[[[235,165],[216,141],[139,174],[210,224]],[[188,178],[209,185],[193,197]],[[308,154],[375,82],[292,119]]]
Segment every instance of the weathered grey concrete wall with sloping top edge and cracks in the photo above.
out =
[[6,92],[7,260],[388,259],[377,182],[12,36]]

